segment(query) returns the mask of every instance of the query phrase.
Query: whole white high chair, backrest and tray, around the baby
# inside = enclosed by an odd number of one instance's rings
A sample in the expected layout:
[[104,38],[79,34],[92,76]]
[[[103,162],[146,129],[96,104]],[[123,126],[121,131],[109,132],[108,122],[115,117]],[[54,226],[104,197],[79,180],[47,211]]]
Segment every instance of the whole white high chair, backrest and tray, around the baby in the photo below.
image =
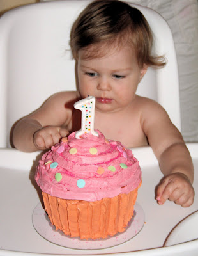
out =
[[[34,230],[31,218],[34,207],[40,202],[33,178],[38,152],[27,154],[9,148],[10,129],[20,117],[38,108],[52,93],[75,90],[75,62],[69,51],[69,33],[73,21],[89,2],[68,0],[36,3],[11,10],[0,19],[0,256],[36,256],[43,253],[183,256],[187,255],[186,252],[197,255],[196,234],[190,239],[182,237],[175,241],[178,228],[172,239],[167,239],[167,236],[179,221],[197,211],[198,200],[195,198],[194,205],[188,209],[182,209],[172,202],[166,202],[163,206],[156,204],[154,188],[162,173],[150,147],[133,149],[141,163],[143,180],[137,202],[146,215],[144,227],[132,240],[100,251],[72,250],[49,243]],[[158,55],[164,54],[168,60],[165,68],[149,68],[137,93],[162,104],[172,122],[180,129],[178,70],[171,31],[155,11],[137,4],[133,6],[141,10],[153,30],[153,51]],[[195,152],[198,147],[188,145],[188,148],[197,168]],[[195,195],[198,193],[197,178],[195,173]],[[192,230],[185,230],[184,234],[189,232],[192,234]]]

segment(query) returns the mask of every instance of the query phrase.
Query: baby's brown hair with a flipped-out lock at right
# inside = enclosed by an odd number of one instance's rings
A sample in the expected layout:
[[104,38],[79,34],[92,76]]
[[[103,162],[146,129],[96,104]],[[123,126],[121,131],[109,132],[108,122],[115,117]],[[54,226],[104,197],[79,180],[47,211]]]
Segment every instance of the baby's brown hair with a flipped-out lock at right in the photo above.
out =
[[[97,58],[108,47],[132,47],[139,67],[144,64],[164,67],[164,56],[152,56],[153,35],[144,15],[127,3],[118,0],[96,0],[80,13],[72,26],[70,47],[78,59],[80,49],[84,58]],[[100,47],[102,46],[102,47]]]

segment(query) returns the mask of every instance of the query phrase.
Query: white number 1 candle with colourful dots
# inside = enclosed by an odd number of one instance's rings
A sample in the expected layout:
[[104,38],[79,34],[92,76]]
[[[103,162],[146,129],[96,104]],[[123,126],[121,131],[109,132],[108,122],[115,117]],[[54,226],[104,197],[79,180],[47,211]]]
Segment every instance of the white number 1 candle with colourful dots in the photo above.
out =
[[89,96],[75,102],[73,105],[74,108],[82,111],[81,129],[75,132],[75,138],[79,139],[84,133],[91,133],[94,136],[98,136],[98,132],[94,131],[95,101],[95,97]]

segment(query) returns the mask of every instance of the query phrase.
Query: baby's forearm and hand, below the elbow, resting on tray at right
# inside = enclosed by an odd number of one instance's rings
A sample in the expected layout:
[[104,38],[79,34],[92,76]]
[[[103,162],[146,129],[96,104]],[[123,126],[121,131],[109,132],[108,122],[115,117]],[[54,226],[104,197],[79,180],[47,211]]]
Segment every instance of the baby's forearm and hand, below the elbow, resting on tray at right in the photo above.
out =
[[159,163],[165,178],[156,191],[158,203],[169,199],[183,207],[190,206],[194,201],[194,168],[185,144],[172,144],[161,154]]

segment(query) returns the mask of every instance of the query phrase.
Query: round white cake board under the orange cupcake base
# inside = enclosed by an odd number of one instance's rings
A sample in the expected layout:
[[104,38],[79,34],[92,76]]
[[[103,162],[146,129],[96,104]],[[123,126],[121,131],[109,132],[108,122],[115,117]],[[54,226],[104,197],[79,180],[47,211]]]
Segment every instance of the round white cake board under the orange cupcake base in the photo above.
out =
[[60,230],[56,231],[40,203],[36,205],[33,211],[33,225],[38,234],[51,243],[73,249],[96,250],[125,243],[136,236],[144,225],[144,211],[141,205],[136,203],[134,206],[134,216],[130,223],[128,223],[126,230],[123,233],[109,236],[106,239],[86,240],[79,237],[66,236]]

